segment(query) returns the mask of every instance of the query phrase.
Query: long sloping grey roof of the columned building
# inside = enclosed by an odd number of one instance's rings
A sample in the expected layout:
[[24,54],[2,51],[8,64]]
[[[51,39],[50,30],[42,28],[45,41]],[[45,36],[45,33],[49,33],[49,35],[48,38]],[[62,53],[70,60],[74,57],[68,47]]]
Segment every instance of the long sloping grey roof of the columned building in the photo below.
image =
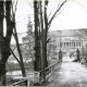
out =
[[50,38],[55,38],[55,37],[82,37],[82,38],[87,38],[87,28],[51,30],[51,32],[49,32],[48,36]]

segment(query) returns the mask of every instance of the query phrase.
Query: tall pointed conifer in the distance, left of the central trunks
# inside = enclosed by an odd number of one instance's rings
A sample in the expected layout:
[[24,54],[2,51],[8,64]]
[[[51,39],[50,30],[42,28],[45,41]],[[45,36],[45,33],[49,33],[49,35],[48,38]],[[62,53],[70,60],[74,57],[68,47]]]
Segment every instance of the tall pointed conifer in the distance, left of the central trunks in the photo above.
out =
[[33,25],[30,22],[30,18],[28,18],[28,24],[27,24],[27,32],[26,32],[26,36],[23,37],[23,47],[25,49],[24,55],[26,57],[26,60],[28,60],[29,58],[32,58],[32,60],[34,61],[34,33],[33,33]]

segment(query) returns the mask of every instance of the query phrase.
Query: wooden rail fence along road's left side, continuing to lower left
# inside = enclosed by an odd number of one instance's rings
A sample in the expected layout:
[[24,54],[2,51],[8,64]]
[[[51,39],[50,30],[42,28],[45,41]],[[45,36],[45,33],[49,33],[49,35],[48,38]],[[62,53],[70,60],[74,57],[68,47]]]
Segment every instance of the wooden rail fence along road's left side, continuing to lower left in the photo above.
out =
[[[46,79],[48,79],[51,76],[51,74],[53,73],[53,71],[55,70],[55,67],[60,64],[61,64],[61,61],[46,67],[45,70],[41,70],[40,72],[35,72],[33,84],[35,84],[37,80],[38,80],[37,83],[42,83],[45,80],[44,73],[45,73]],[[30,86],[30,80],[28,80],[28,78],[26,78],[25,80],[21,80],[18,83],[13,84],[13,86]]]

